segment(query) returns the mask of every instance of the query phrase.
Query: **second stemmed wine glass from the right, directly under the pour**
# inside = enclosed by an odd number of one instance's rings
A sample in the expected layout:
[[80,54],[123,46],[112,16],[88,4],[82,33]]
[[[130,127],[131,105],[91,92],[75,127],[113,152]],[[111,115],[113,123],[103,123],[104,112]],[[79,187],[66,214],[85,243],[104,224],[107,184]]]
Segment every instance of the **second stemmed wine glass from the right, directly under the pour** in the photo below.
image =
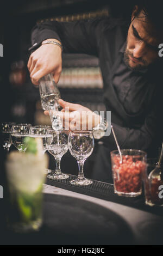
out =
[[47,175],[47,178],[52,180],[67,179],[69,175],[61,172],[60,161],[68,150],[68,131],[48,129],[46,133],[46,148],[54,156],[56,162],[55,172]]

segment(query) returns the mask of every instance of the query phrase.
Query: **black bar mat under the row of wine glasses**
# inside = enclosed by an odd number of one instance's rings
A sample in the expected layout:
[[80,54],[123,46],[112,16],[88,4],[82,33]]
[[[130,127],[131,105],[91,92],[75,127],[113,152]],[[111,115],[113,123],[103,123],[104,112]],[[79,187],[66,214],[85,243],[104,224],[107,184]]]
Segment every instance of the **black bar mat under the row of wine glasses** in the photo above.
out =
[[77,176],[71,174],[68,175],[69,178],[65,180],[51,180],[47,178],[45,183],[47,185],[63,188],[64,190],[86,194],[87,196],[127,205],[136,209],[163,216],[163,207],[146,205],[143,194],[142,196],[133,198],[118,196],[114,193],[114,185],[96,180],[93,180],[93,183],[88,186],[72,185],[70,184],[70,180],[76,179]]

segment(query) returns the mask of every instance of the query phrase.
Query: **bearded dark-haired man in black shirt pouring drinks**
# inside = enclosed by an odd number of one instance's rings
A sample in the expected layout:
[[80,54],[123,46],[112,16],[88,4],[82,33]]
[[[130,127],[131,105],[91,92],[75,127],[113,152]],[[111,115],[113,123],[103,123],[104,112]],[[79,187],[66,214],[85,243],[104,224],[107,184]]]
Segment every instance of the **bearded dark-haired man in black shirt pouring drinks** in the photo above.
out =
[[[59,81],[62,50],[97,56],[103,77],[104,103],[106,111],[111,111],[111,124],[120,148],[144,150],[148,157],[156,157],[163,133],[162,58],[159,56],[163,29],[161,8],[155,9],[150,3],[135,5],[129,22],[107,17],[40,23],[32,31],[32,54],[28,60],[30,78],[36,85],[50,72],[55,82]],[[59,100],[59,103],[62,111],[69,107],[69,114],[90,111],[71,102]],[[98,129],[101,130],[100,122],[104,120],[93,112],[92,115],[96,138]],[[110,182],[110,151],[116,149],[116,144],[112,133],[100,141],[92,178]]]

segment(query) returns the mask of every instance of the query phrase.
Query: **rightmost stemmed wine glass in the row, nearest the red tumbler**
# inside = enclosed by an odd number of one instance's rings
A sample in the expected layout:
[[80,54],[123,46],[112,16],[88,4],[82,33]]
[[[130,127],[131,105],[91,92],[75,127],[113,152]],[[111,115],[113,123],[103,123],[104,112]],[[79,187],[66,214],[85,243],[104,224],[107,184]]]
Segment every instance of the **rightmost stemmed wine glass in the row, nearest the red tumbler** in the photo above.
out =
[[68,137],[68,148],[79,166],[78,178],[71,180],[73,185],[90,185],[93,181],[84,177],[84,162],[92,154],[94,148],[93,133],[91,131],[72,131]]

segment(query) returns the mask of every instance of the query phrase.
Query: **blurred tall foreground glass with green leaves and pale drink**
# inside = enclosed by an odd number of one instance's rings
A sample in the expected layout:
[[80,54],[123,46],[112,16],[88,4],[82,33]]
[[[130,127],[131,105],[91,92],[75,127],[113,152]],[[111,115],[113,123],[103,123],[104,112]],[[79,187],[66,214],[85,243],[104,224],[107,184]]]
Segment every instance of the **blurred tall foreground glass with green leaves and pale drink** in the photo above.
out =
[[9,197],[9,229],[26,233],[39,230],[42,224],[42,188],[48,157],[12,151],[6,162]]

